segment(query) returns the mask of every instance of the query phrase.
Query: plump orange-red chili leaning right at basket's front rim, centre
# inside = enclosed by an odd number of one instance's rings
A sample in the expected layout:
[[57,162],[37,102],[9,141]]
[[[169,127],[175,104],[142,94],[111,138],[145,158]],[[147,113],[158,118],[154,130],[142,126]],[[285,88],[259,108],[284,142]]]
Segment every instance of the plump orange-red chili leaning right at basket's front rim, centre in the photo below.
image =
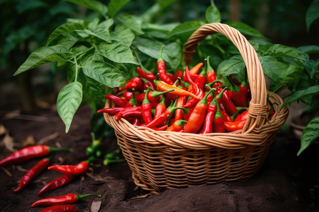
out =
[[210,95],[210,93],[214,90],[215,88],[209,90],[209,92],[207,92],[205,96],[196,104],[189,119],[187,120],[187,124],[185,125],[185,133],[197,133],[199,129],[202,127],[208,108],[206,99],[208,95]]

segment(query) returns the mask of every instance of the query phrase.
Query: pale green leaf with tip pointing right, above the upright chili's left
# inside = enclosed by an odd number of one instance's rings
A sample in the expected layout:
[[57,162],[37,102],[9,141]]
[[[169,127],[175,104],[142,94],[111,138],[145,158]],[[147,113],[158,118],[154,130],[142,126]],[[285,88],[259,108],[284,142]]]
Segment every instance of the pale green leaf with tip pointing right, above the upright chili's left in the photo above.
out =
[[130,47],[122,42],[113,41],[110,44],[101,43],[100,45],[96,46],[96,51],[115,63],[130,63],[139,65],[139,63],[135,60]]

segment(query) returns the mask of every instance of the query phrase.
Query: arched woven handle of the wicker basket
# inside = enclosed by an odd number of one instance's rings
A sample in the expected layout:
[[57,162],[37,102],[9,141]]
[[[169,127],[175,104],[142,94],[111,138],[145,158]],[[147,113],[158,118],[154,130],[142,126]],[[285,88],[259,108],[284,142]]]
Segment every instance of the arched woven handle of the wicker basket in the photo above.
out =
[[249,104],[249,118],[242,133],[260,129],[266,121],[267,115],[267,88],[262,67],[255,49],[247,39],[235,28],[223,23],[207,23],[199,27],[184,44],[183,62],[191,64],[197,44],[208,35],[221,33],[226,36],[240,51],[248,74],[251,89],[251,101]]

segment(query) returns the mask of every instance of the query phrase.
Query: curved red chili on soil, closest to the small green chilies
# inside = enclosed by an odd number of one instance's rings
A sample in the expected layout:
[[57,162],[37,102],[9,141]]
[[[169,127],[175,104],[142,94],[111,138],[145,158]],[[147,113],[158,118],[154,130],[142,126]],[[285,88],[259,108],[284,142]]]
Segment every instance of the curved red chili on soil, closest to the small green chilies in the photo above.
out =
[[86,172],[90,166],[90,162],[93,160],[93,157],[90,157],[86,161],[82,161],[76,165],[52,165],[49,166],[48,170],[55,170],[62,174],[72,174],[72,175],[79,175]]

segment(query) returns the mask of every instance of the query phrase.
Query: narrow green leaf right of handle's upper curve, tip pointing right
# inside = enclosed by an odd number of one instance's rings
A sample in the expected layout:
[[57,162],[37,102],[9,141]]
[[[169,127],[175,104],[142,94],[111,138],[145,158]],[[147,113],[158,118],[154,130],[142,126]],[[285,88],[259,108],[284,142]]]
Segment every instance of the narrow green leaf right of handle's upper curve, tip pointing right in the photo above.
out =
[[288,58],[295,58],[299,60],[308,60],[302,56],[305,54],[295,48],[284,46],[281,44],[273,44],[271,45],[267,51],[264,52],[263,55],[270,55],[274,57],[288,57]]

